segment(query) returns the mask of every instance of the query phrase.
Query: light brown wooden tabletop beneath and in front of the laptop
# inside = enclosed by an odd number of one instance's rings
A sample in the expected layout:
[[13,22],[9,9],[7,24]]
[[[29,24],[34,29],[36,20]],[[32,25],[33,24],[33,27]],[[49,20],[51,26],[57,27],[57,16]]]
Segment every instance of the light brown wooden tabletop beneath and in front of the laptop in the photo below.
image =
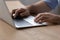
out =
[[0,20],[0,40],[60,40],[60,25],[17,30]]

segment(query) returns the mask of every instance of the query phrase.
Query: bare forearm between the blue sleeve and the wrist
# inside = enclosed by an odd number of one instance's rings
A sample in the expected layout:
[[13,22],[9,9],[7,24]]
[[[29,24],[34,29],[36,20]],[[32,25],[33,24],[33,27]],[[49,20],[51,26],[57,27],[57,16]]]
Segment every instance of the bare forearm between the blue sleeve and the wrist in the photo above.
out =
[[30,13],[42,13],[42,12],[48,12],[51,10],[51,8],[44,2],[44,1],[39,1],[33,5],[29,5],[28,10]]

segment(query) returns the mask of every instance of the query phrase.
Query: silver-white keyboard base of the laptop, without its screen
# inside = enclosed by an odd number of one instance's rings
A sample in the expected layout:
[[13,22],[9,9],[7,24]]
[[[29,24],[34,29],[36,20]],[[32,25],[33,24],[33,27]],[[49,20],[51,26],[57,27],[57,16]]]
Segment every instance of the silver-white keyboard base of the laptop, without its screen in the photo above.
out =
[[29,27],[29,26],[38,26],[38,25],[47,25],[46,23],[36,23],[34,22],[34,17],[33,16],[29,16],[27,18],[24,18],[22,20],[14,20],[14,23],[16,25],[16,27]]

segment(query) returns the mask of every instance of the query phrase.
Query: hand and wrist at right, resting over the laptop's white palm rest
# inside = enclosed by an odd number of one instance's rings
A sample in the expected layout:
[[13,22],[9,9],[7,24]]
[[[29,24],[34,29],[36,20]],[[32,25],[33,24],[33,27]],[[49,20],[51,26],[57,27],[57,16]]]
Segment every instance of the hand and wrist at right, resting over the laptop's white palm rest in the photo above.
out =
[[37,23],[48,22],[48,23],[57,24],[57,23],[60,23],[60,16],[52,13],[39,13],[35,17],[34,21]]

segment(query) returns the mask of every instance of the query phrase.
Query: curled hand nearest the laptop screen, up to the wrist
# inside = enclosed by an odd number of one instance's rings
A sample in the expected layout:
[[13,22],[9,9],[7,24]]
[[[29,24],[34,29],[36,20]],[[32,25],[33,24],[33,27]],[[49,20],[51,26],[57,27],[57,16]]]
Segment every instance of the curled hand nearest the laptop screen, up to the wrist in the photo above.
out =
[[21,8],[21,9],[14,9],[12,10],[12,17],[16,18],[18,17],[27,17],[30,13],[27,9]]

